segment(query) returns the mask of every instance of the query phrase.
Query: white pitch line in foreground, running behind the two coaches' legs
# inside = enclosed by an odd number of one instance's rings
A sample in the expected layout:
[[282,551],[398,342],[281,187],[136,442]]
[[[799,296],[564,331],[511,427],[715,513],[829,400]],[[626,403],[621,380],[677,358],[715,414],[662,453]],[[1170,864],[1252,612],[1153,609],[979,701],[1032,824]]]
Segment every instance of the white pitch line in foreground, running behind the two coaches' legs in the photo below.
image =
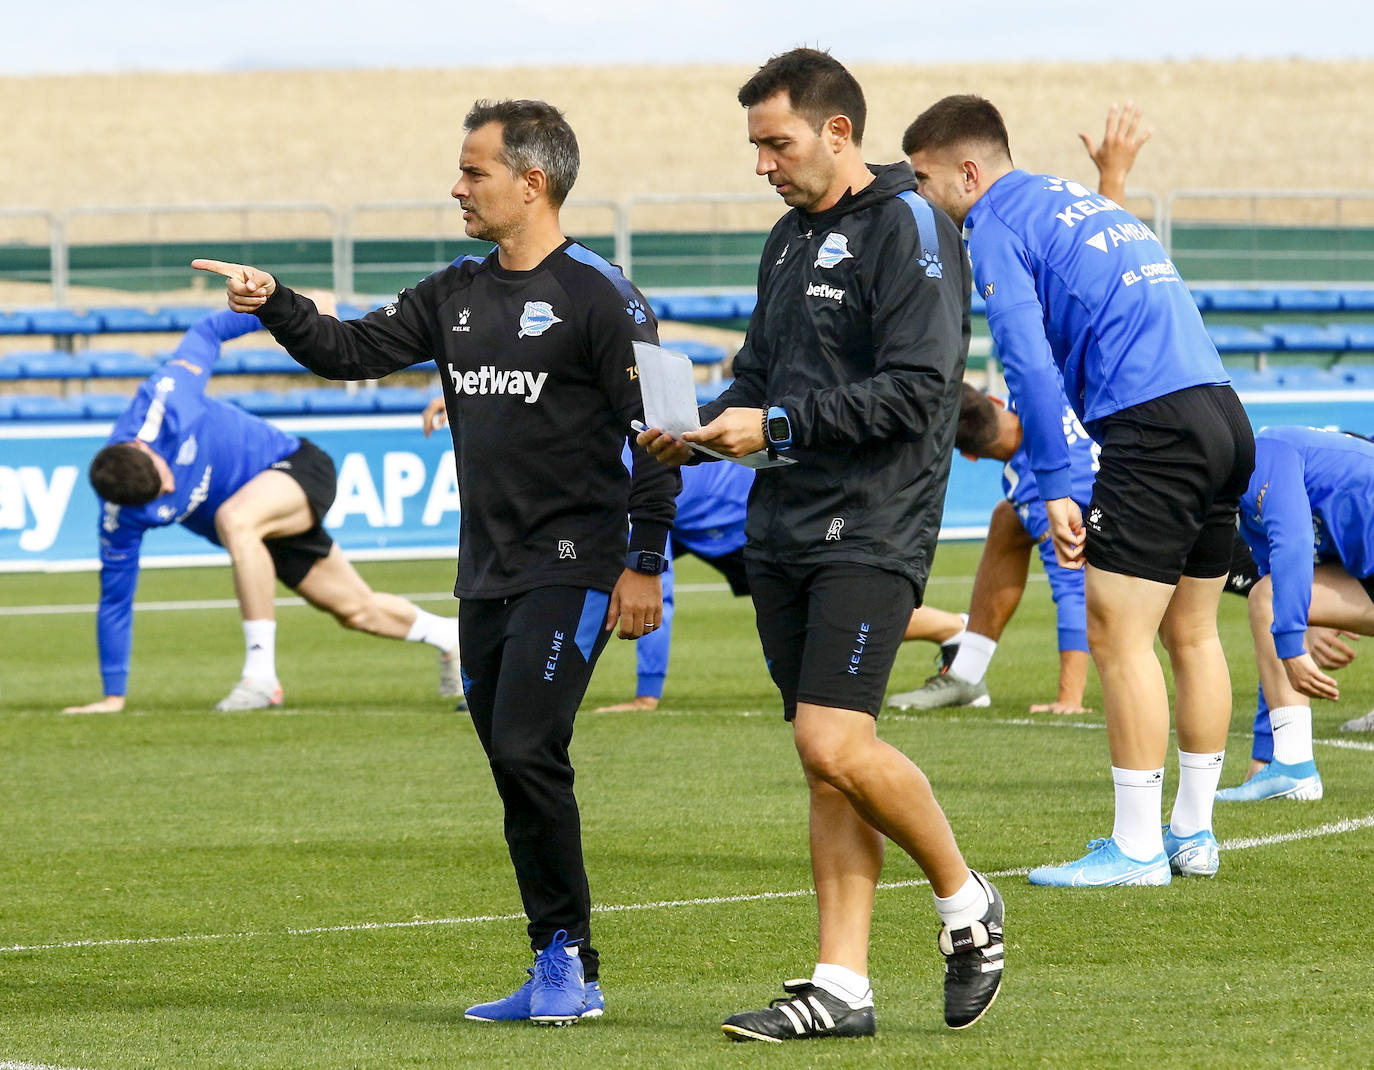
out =
[[[1242,839],[1228,839],[1221,843],[1224,850],[1248,850],[1250,847],[1267,847],[1274,843],[1292,843],[1301,839],[1319,839],[1322,836],[1358,832],[1363,828],[1374,828],[1374,813],[1364,817],[1344,817],[1338,821],[1318,826],[1316,828],[1300,828],[1293,832],[1275,832],[1268,836],[1249,836]],[[987,876],[1025,876],[1028,868],[998,869]],[[905,887],[922,887],[929,882],[923,878],[911,880],[885,880],[878,885],[882,891]],[[743,896],[703,896],[692,900],[654,900],[651,902],[620,902],[605,907],[592,907],[592,913],[628,913],[631,911],[666,911],[683,907],[717,907],[735,902],[763,902],[767,900],[796,900],[815,896],[813,889],[796,889],[791,891],[754,891]],[[73,948],[132,948],[164,944],[196,944],[220,940],[256,940],[264,937],[306,937],[331,933],[375,933],[393,929],[433,929],[437,926],[481,924],[485,922],[522,922],[522,913],[480,913],[469,918],[431,918],[409,922],[363,922],[345,926],[313,926],[311,929],[279,929],[279,930],[246,930],[243,933],[184,933],[173,937],[125,937],[122,940],[65,940],[52,944],[12,944],[0,948],[0,955],[11,955],[36,951],[66,951]],[[4,1066],[0,1065],[0,1070]]]

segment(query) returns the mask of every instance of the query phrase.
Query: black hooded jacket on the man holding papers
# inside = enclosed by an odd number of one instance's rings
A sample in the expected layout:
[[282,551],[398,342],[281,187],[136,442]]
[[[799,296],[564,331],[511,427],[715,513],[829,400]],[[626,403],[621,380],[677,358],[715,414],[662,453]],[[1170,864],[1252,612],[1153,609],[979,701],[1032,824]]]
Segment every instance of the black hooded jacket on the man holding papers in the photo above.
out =
[[[905,163],[768,235],[735,382],[702,408],[782,405],[796,464],[758,473],[745,556],[857,562],[923,595],[969,353],[971,272],[958,228]],[[760,416],[761,419],[761,416]]]

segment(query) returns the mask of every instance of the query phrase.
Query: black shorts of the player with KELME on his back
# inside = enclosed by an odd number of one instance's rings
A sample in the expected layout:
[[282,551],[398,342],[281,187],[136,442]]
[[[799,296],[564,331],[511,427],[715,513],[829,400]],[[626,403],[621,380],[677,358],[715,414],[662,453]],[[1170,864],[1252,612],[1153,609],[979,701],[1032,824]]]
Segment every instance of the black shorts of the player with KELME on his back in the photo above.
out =
[[1094,420],[1102,467],[1083,518],[1095,569],[1176,584],[1226,576],[1254,434],[1230,386],[1193,386]]

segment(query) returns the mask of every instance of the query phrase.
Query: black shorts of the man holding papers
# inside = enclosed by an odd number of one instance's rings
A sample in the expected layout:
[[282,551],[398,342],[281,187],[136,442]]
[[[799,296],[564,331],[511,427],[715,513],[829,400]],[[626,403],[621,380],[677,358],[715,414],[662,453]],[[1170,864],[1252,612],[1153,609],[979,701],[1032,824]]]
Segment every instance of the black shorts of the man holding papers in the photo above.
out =
[[877,717],[916,606],[915,585],[868,565],[750,559],[749,587],[783,717],[793,720],[798,702]]

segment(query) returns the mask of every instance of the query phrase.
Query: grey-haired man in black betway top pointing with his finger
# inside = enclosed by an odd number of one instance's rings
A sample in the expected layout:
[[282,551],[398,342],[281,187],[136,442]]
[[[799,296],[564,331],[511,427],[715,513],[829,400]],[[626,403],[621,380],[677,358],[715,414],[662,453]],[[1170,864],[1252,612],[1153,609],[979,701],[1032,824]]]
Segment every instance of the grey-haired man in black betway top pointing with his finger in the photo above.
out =
[[[506,842],[536,952],[478,1021],[562,1025],[602,1014],[599,959],[567,747],[610,629],[661,619],[658,576],[676,473],[636,451],[632,342],[657,342],[649,302],[618,268],[567,240],[559,207],[577,139],[539,100],[478,102],[453,196],[469,236],[493,242],[392,304],[339,323],[267,272],[195,261],[228,279],[305,367],[372,379],[434,358],[463,490],[458,582],[466,694],[506,812]],[[627,537],[627,515],[632,527]]]

